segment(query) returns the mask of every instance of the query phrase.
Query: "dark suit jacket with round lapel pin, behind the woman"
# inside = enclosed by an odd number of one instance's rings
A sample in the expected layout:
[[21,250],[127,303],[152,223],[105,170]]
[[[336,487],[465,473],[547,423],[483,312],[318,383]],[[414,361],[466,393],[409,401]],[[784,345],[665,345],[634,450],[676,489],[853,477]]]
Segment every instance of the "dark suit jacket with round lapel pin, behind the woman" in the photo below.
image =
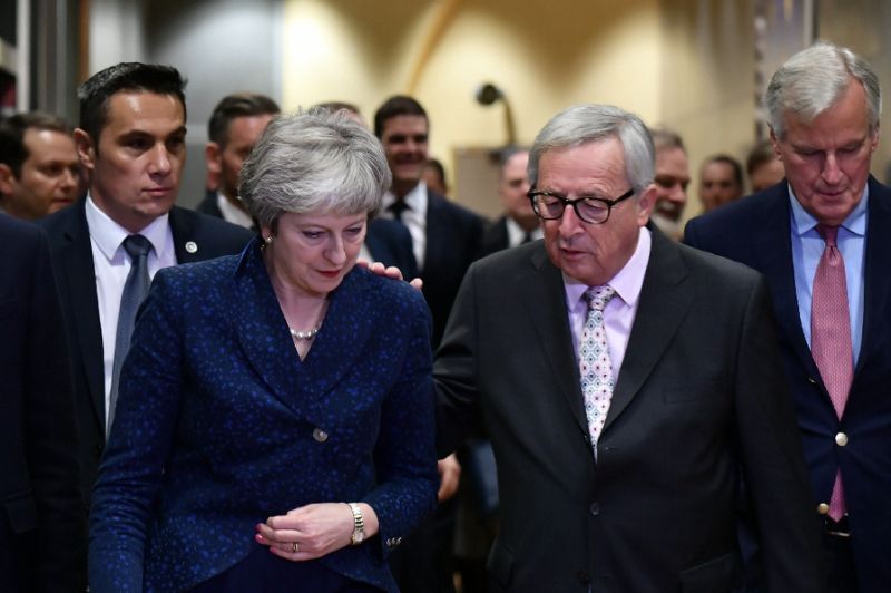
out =
[[[86,200],[41,220],[47,230],[71,348],[75,406],[80,443],[80,486],[87,507],[105,448],[102,329]],[[176,261],[197,262],[238,253],[253,234],[246,229],[174,206],[169,215]]]

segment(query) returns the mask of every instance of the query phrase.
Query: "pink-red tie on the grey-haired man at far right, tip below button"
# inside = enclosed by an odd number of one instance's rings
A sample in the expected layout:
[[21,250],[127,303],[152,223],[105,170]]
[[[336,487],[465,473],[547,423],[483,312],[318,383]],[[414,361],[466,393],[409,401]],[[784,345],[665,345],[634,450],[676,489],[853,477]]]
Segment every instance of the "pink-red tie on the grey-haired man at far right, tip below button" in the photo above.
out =
[[[835,244],[839,227],[819,224],[816,232],[825,240],[826,246],[814,275],[811,353],[835,407],[835,414],[841,419],[854,378],[848,283],[844,278],[844,260]],[[835,473],[835,485],[829,503],[829,516],[833,521],[839,521],[844,516],[844,489],[839,469]]]

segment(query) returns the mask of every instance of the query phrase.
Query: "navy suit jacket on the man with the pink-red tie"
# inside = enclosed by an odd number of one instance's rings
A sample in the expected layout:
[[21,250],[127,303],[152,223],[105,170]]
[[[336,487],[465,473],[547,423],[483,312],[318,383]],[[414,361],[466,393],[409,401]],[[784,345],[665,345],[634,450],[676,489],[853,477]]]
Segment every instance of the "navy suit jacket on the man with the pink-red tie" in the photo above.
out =
[[[814,496],[829,503],[841,468],[860,590],[884,592],[891,586],[891,189],[873,177],[869,188],[863,338],[841,420],[801,329],[786,182],[691,221],[684,241],[766,276]],[[835,443],[839,432],[848,435],[844,447]]]

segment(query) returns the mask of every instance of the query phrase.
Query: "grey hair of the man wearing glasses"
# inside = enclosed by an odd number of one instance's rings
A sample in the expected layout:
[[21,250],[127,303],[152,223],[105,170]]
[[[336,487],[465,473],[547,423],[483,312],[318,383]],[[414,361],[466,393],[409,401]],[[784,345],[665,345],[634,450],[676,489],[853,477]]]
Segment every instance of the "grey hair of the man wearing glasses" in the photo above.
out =
[[546,152],[607,138],[621,143],[625,175],[635,194],[639,194],[653,183],[653,138],[639,117],[611,105],[577,105],[554,116],[529,150],[529,183],[533,187],[538,183],[538,164]]

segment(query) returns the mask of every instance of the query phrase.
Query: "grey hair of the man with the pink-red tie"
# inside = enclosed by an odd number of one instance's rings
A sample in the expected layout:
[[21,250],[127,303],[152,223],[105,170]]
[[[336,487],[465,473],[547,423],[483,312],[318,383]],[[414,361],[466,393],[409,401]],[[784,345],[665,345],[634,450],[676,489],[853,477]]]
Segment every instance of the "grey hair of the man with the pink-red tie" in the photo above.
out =
[[813,121],[841,98],[851,79],[863,85],[870,133],[874,133],[882,115],[879,77],[863,58],[825,41],[799,51],[774,72],[764,96],[771,129],[777,138],[785,138],[785,114]]

